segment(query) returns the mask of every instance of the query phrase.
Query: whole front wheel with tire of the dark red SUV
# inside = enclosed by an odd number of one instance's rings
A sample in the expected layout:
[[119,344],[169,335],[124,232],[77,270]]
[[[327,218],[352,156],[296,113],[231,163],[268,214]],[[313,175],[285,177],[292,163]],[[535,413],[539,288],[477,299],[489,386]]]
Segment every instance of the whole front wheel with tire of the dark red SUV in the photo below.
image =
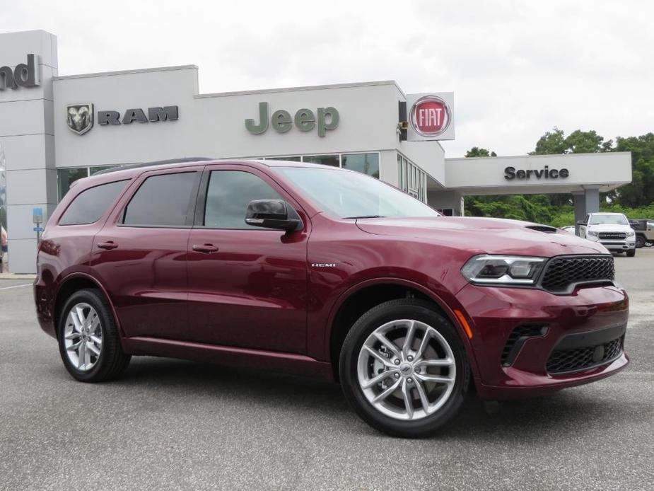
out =
[[459,335],[433,305],[387,301],[364,314],[340,357],[346,399],[370,426],[424,437],[459,412],[469,366]]

